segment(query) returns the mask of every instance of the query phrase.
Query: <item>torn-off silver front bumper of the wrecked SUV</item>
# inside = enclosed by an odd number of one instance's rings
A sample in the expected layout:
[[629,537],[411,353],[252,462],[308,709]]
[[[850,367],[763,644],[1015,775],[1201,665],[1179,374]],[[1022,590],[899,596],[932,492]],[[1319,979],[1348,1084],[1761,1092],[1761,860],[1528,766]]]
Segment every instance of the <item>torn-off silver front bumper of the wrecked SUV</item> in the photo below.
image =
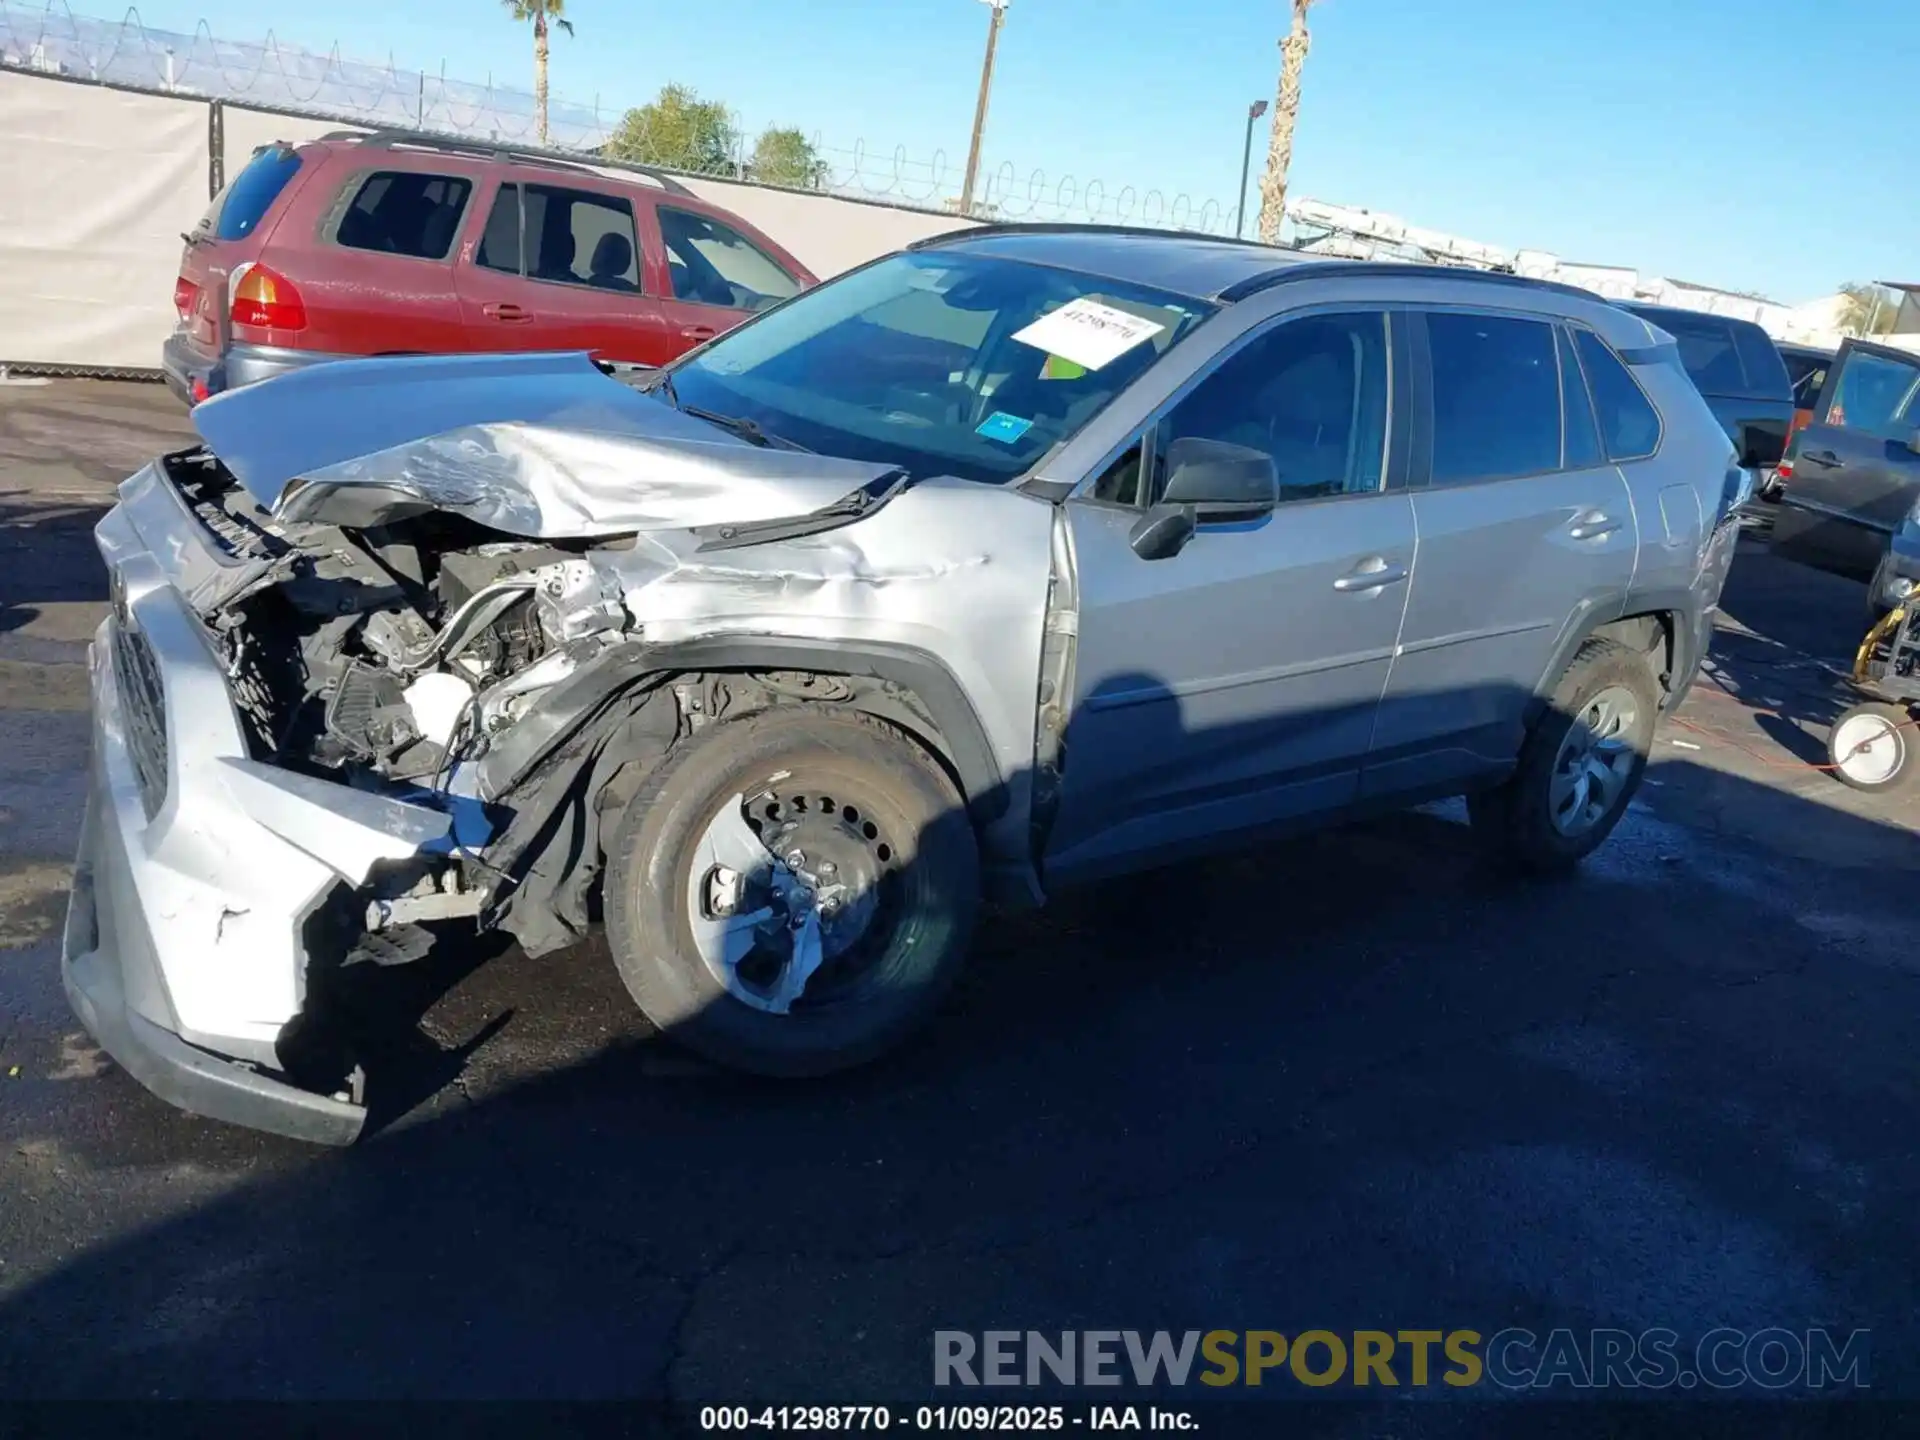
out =
[[[184,534],[184,532],[177,532]],[[326,1144],[365,1110],[286,1075],[309,924],[374,866],[449,843],[434,808],[259,764],[213,645],[127,507],[90,649],[94,755],[61,972],[92,1037],[163,1100]]]

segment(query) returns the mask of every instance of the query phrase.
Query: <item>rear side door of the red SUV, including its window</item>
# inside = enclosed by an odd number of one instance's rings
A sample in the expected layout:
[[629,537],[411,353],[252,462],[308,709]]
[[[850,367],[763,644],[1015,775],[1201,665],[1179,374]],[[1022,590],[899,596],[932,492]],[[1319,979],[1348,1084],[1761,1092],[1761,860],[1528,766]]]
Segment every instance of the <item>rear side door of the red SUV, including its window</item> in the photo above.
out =
[[589,177],[509,171],[457,273],[468,344],[662,365],[684,346],[643,275],[632,194]]

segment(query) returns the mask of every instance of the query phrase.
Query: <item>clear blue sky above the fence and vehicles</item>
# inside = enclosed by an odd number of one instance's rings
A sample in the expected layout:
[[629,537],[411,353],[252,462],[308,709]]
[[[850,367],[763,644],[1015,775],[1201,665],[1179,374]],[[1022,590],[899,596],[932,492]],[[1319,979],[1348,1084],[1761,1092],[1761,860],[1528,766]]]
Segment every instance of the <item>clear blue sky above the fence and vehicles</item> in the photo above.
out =
[[[493,0],[138,13],[530,83],[530,40]],[[987,31],[975,0],[570,0],[568,15],[559,96],[618,108],[680,81],[749,129],[964,161]],[[1021,188],[1039,169],[1048,186],[1071,173],[1231,205],[1284,17],[1286,0],[1012,0],[989,165],[1010,163]],[[1292,192],[1786,301],[1920,280],[1901,77],[1916,56],[1914,0],[1321,0]]]

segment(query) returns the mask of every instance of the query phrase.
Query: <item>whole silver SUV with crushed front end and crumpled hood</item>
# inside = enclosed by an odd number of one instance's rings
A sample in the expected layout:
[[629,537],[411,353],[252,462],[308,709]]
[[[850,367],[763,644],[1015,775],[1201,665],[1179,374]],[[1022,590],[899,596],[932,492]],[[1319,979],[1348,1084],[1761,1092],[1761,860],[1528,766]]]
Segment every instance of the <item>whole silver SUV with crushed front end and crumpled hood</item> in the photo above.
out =
[[1442,795],[1572,864],[1747,484],[1584,292],[1071,227],[637,388],[348,361],[194,420],[98,532],[67,993],[163,1098],[328,1142],[344,977],[449,929],[603,920],[666,1035],[808,1075],[927,1020],[983,897]]

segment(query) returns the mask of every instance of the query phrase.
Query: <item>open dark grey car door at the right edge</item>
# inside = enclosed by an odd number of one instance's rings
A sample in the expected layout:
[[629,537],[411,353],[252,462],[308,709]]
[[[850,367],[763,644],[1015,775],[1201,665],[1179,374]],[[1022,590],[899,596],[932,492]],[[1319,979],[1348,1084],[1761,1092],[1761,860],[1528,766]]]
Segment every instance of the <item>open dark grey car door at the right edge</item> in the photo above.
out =
[[1920,355],[1849,340],[1793,436],[1774,549],[1866,580],[1920,499]]

